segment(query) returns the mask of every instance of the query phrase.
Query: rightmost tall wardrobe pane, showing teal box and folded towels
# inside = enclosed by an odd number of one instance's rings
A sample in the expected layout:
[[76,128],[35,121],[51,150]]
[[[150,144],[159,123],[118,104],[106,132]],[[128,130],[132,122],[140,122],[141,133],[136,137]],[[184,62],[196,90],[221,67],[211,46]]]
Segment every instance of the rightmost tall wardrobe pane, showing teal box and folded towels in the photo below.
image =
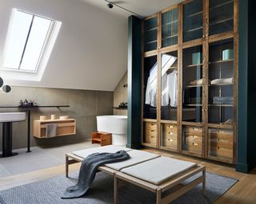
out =
[[211,43],[208,98],[208,121],[210,124],[233,124],[233,77],[233,39]]

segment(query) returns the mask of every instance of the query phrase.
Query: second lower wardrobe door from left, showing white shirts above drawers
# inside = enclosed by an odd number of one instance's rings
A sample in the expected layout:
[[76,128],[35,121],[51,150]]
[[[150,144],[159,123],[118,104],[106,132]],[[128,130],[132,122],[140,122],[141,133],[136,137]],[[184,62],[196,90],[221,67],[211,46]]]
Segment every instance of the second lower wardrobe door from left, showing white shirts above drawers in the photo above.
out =
[[161,146],[177,151],[178,51],[162,53],[161,62]]

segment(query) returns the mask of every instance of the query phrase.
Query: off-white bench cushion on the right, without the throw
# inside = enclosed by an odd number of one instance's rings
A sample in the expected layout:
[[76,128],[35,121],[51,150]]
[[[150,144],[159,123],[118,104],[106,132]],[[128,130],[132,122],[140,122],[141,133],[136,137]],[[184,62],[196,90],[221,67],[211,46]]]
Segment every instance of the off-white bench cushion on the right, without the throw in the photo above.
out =
[[124,168],[121,172],[158,185],[195,166],[197,166],[196,163],[162,156]]

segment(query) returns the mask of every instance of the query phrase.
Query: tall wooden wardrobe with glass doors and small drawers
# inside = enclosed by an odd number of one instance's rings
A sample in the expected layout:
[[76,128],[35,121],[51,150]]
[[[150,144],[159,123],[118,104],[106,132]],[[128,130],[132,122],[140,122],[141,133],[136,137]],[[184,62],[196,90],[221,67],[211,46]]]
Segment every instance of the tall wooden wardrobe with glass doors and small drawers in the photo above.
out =
[[142,22],[142,145],[236,163],[238,0],[190,0]]

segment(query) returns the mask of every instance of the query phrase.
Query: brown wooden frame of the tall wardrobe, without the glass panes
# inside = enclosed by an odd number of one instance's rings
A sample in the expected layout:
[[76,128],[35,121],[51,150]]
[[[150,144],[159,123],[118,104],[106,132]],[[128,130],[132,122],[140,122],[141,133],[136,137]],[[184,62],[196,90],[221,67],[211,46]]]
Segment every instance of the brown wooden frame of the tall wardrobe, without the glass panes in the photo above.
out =
[[[183,33],[183,6],[193,0],[186,0],[182,3],[179,3],[175,6],[170,6],[165,10],[158,12],[158,14],[151,15],[148,18],[143,19],[142,21],[142,127],[144,127],[144,122],[154,122],[158,126],[157,130],[157,144],[156,146],[150,143],[144,143],[143,141],[143,128],[142,128],[142,145],[145,147],[154,147],[158,149],[173,151],[168,147],[161,147],[160,146],[160,139],[161,139],[161,124],[177,124],[178,127],[178,149],[177,152],[187,155],[195,155],[205,159],[212,159],[221,161],[224,163],[236,163],[236,155],[237,155],[237,120],[238,120],[238,0],[234,0],[234,30],[228,31],[225,33],[217,33],[214,35],[209,35],[209,1],[210,0],[202,0],[203,2],[203,12],[202,12],[202,38],[193,40],[193,41],[186,41],[183,42],[182,33]],[[178,44],[177,45],[170,45],[167,47],[162,48],[162,13],[165,13],[169,10],[173,10],[178,8]],[[143,30],[143,22],[150,18],[158,17],[158,45],[157,49],[153,51],[148,51],[144,53],[144,30]],[[215,41],[223,41],[226,39],[233,39],[234,41],[234,85],[233,85],[233,97],[234,97],[234,104],[233,104],[233,125],[227,124],[208,124],[208,66],[209,66],[209,45]],[[194,122],[186,122],[182,121],[182,50],[191,48],[194,46],[202,45],[202,53],[203,53],[203,60],[202,60],[202,79],[203,79],[203,87],[202,87],[202,123],[194,123]],[[177,107],[177,121],[172,120],[161,120],[161,99],[158,96],[161,96],[162,88],[161,88],[161,54],[162,53],[169,53],[177,51],[178,52],[178,107]],[[144,58],[157,56],[158,58],[158,92],[157,92],[157,118],[155,120],[151,119],[144,119],[143,118],[143,106],[144,106],[144,90],[143,90],[143,83],[144,83]],[[204,139],[202,141],[202,155],[193,154],[190,151],[182,151],[182,126],[189,125],[189,126],[197,126],[202,127],[204,130]],[[220,129],[232,129],[233,130],[233,159],[226,159],[222,157],[215,157],[208,155],[208,129],[209,128],[220,128]]]

